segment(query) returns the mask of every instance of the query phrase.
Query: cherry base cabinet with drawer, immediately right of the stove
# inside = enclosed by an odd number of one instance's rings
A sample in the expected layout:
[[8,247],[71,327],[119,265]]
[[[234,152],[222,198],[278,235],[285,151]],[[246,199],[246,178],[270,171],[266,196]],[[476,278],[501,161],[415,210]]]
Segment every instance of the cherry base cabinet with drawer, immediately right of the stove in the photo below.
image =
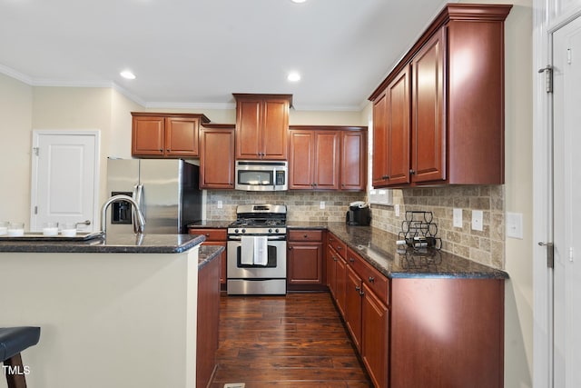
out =
[[288,236],[288,285],[290,291],[324,289],[323,231],[291,230]]

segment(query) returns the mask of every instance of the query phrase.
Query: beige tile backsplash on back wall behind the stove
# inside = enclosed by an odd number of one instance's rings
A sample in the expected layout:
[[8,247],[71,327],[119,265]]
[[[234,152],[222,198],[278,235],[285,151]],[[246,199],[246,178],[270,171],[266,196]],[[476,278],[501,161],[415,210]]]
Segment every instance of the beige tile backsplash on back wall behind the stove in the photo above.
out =
[[[206,194],[206,219],[235,220],[239,204],[286,204],[289,221],[344,222],[349,204],[364,201],[365,193],[350,192],[265,192],[209,190]],[[222,201],[222,209],[218,209]],[[320,203],[325,208],[320,209]]]

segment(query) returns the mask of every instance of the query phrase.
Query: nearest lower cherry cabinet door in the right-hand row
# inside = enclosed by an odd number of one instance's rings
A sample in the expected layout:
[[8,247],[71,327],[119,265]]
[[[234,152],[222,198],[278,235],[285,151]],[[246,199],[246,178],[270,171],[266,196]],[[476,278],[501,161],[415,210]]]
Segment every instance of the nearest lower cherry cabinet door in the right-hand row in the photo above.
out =
[[361,358],[378,388],[388,386],[389,310],[363,284],[361,301]]

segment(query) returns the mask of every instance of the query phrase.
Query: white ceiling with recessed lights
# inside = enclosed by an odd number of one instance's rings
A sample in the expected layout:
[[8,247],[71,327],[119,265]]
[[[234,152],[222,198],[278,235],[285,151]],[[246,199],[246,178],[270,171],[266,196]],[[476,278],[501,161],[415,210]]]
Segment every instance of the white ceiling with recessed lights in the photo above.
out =
[[113,86],[146,107],[223,109],[232,93],[264,93],[292,94],[297,110],[359,111],[446,3],[0,0],[0,72]]

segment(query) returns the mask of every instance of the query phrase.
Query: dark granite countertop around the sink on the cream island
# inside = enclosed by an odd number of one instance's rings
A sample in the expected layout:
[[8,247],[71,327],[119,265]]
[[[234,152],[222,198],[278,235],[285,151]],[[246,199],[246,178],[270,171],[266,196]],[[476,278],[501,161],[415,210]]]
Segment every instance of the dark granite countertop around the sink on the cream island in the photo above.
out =
[[15,239],[0,241],[0,253],[180,254],[204,240],[200,234],[111,234],[87,241]]

